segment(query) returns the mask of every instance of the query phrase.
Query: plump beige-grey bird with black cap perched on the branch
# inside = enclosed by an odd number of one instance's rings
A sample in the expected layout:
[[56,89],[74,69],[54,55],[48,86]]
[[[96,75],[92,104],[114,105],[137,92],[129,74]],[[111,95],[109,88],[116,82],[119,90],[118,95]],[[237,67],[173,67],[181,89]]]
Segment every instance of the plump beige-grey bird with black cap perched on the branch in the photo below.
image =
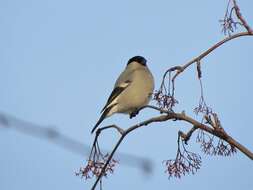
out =
[[134,56],[127,62],[125,70],[115,82],[111,95],[101,111],[101,116],[91,130],[93,133],[99,124],[115,113],[129,114],[130,119],[146,106],[154,90],[154,77],[142,56]]

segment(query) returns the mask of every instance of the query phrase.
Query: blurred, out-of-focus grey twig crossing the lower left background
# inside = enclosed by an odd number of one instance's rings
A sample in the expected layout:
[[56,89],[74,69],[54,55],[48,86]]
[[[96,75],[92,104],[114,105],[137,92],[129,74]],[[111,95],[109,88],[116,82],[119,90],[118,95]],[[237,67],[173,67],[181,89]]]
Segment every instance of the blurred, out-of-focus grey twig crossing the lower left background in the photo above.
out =
[[[62,134],[56,127],[35,124],[3,112],[0,112],[0,127],[47,140],[80,156],[89,155],[90,152],[90,147],[88,145]],[[104,151],[108,152],[106,150]],[[118,153],[116,159],[119,159],[121,164],[139,168],[144,173],[150,174],[153,171],[152,162],[146,158],[126,153]]]

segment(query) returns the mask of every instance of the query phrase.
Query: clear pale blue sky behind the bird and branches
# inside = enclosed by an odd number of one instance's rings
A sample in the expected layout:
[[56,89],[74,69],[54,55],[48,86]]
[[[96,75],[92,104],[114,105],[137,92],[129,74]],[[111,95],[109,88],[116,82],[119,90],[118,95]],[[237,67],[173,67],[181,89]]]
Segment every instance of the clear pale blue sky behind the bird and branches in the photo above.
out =
[[[238,1],[253,27],[253,2]],[[156,86],[163,72],[187,62],[222,39],[218,22],[227,1],[0,1],[0,110],[91,144],[90,130],[127,60],[143,55]],[[225,44],[203,60],[207,103],[226,131],[253,150],[253,38]],[[177,110],[189,115],[198,103],[194,68],[178,80]],[[154,103],[154,102],[152,102]],[[143,111],[133,120],[115,115],[104,125],[126,128],[156,115]],[[253,163],[238,152],[231,158],[202,156],[194,176],[168,180],[162,161],[175,157],[183,123],[153,124],[127,137],[120,151],[150,158],[152,176],[120,165],[104,180],[104,189],[250,189]],[[118,136],[107,131],[103,148]],[[200,152],[195,140],[190,148]],[[69,153],[49,142],[0,129],[0,189],[89,189],[93,181],[74,175],[85,155]]]

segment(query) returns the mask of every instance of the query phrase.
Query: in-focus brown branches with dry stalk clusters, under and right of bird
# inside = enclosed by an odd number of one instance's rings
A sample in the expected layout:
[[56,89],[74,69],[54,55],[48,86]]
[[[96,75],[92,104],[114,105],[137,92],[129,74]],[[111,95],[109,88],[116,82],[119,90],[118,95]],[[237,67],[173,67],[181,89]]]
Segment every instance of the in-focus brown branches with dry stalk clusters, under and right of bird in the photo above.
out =
[[[107,169],[108,164],[110,164],[110,161],[111,161],[114,153],[118,149],[118,147],[121,144],[121,142],[123,141],[123,139],[127,136],[127,134],[129,134],[130,132],[132,132],[140,127],[147,126],[147,125],[149,125],[151,123],[155,123],[155,122],[164,122],[164,121],[168,121],[168,120],[173,120],[173,121],[181,120],[181,121],[185,121],[186,123],[189,123],[193,126],[186,134],[179,131],[179,133],[178,133],[178,146],[180,146],[180,144],[179,144],[180,139],[183,140],[185,144],[187,144],[187,142],[191,138],[192,134],[197,129],[199,129],[201,132],[205,131],[206,133],[219,138],[218,152],[217,152],[217,148],[216,149],[214,148],[215,154],[217,153],[218,155],[231,155],[231,153],[234,153],[236,151],[236,149],[238,149],[243,154],[245,154],[247,157],[249,157],[251,160],[253,160],[253,153],[249,149],[247,149],[245,146],[243,146],[242,144],[237,142],[230,135],[228,135],[225,132],[225,130],[221,127],[221,124],[220,124],[217,114],[212,112],[212,109],[206,105],[206,103],[204,101],[204,97],[203,97],[203,87],[202,87],[202,82],[201,82],[201,75],[202,75],[202,73],[201,73],[201,60],[203,58],[205,58],[207,55],[209,55],[211,52],[213,52],[214,50],[216,50],[217,48],[222,46],[223,44],[225,44],[233,39],[236,39],[236,38],[239,38],[242,36],[253,36],[253,31],[250,28],[250,26],[247,24],[246,20],[242,17],[242,14],[240,13],[240,9],[236,3],[236,0],[233,0],[233,8],[229,12],[228,9],[229,9],[230,3],[231,3],[231,0],[229,0],[224,20],[221,20],[222,25],[224,27],[223,31],[225,32],[225,34],[227,33],[226,31],[228,31],[229,36],[224,38],[223,40],[217,42],[216,44],[211,46],[209,49],[207,49],[206,51],[201,53],[199,56],[193,58],[192,60],[190,60],[186,64],[184,64],[182,66],[171,67],[170,69],[168,69],[164,73],[163,79],[161,82],[161,86],[160,86],[159,90],[154,93],[154,99],[157,101],[160,108],[155,107],[155,106],[145,106],[145,107],[141,108],[141,109],[152,108],[152,109],[159,111],[163,115],[153,117],[153,118],[143,121],[139,124],[133,125],[125,131],[118,130],[121,133],[121,137],[118,140],[118,142],[116,143],[115,147],[113,148],[113,150],[112,150],[111,154],[109,155],[108,160],[106,161],[105,165],[103,166],[101,172],[97,176],[97,179],[96,179],[94,185],[92,186],[92,190],[95,189],[96,185],[101,180],[102,176],[106,175],[105,173],[106,173],[106,169]],[[235,11],[235,14],[236,14],[239,22],[236,22],[233,20],[233,18],[232,18],[233,11]],[[231,34],[230,32],[234,32],[234,28],[236,28],[237,24],[244,26],[244,28],[247,30],[247,32],[241,32],[241,33],[237,33],[234,35],[230,35]],[[199,113],[199,112],[204,113],[203,119],[206,120],[206,122],[207,122],[206,124],[203,124],[202,122],[199,122],[199,121],[187,116],[184,112],[175,113],[172,109],[173,106],[176,103],[178,103],[177,100],[174,98],[175,79],[181,73],[183,73],[189,66],[191,66],[194,63],[197,64],[198,79],[200,80],[200,85],[201,85],[201,101],[200,101],[199,107],[196,110],[196,113]],[[174,73],[172,78],[171,78],[171,73]],[[166,85],[165,85],[165,79],[166,79],[167,74],[169,74],[169,85],[168,85],[169,87],[168,87],[168,89],[166,88]],[[171,87],[171,83],[172,83],[172,87]],[[115,128],[120,129],[119,127],[115,127]],[[212,145],[212,141],[213,141],[213,137],[211,138],[210,142],[206,143],[203,140],[203,143],[205,145],[211,145],[211,147],[214,147]],[[227,149],[227,146],[223,144],[223,141],[227,142],[231,146],[231,149]],[[206,150],[208,150],[209,147],[208,146],[205,147],[205,148],[207,148]],[[178,148],[180,148],[180,147],[178,147]],[[183,145],[183,148],[184,148],[184,152],[186,152],[186,154],[188,155],[188,156],[186,156],[188,158],[188,160],[186,161],[187,163],[185,163],[184,159],[183,159],[183,158],[185,158],[184,153],[180,153],[180,150],[179,150],[177,153],[176,160],[174,162],[171,162],[172,160],[167,161],[166,165],[168,167],[168,171],[170,173],[170,176],[174,173],[175,176],[180,177],[180,172],[183,171],[183,174],[184,174],[184,172],[193,171],[192,169],[197,170],[200,167],[200,163],[201,163],[200,157],[194,153],[187,151],[185,149],[184,145]],[[196,165],[194,165],[194,163]]]

